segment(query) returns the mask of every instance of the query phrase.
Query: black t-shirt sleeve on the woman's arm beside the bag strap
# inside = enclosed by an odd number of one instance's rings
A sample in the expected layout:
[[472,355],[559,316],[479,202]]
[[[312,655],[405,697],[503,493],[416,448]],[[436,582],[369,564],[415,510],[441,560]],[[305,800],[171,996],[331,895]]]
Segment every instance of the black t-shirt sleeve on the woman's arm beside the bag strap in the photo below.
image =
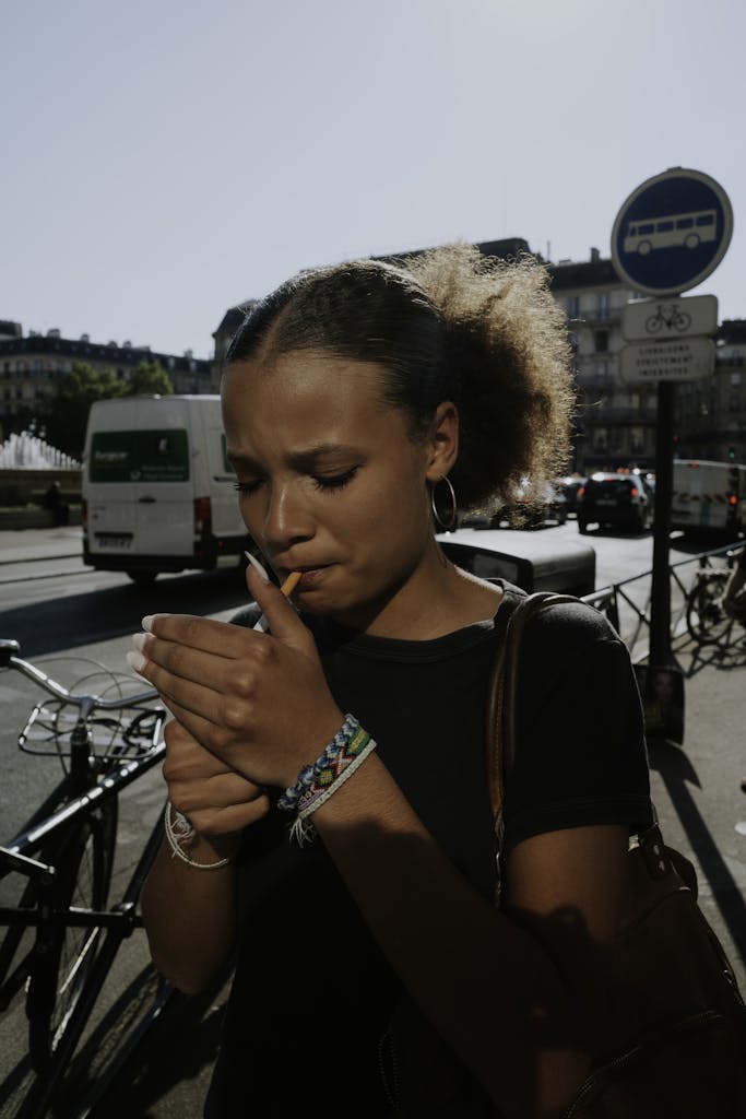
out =
[[630,655],[582,603],[527,628],[519,660],[516,761],[506,775],[506,853],[560,828],[652,822],[640,693]]

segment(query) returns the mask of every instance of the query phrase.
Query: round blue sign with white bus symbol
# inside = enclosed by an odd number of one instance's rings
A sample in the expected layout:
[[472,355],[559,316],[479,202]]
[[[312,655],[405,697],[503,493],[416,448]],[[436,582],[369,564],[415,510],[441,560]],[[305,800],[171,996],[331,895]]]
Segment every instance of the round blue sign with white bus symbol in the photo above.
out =
[[646,179],[620,209],[612,232],[618,275],[649,295],[696,288],[730,243],[733,209],[715,179],[674,167]]

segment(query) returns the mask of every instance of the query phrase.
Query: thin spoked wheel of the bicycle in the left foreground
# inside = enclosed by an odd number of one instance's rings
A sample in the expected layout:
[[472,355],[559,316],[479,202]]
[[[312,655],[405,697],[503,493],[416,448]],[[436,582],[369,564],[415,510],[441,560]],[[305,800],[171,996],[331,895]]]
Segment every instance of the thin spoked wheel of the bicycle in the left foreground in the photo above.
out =
[[[117,805],[108,800],[87,816],[43,861],[57,867],[55,910],[69,906],[103,910],[114,865]],[[29,1055],[40,1070],[59,1046],[86,977],[94,963],[102,930],[53,927],[39,946],[29,982],[26,1010],[29,1018]]]

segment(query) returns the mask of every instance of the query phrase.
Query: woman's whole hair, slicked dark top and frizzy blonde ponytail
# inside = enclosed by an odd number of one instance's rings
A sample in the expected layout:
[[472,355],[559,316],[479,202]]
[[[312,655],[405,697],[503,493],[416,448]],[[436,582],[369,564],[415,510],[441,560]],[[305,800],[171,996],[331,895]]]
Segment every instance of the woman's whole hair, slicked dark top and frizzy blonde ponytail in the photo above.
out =
[[566,469],[575,407],[563,311],[538,261],[466,243],[302,272],[247,314],[226,365],[303,349],[379,364],[413,438],[453,401],[459,508],[525,506]]

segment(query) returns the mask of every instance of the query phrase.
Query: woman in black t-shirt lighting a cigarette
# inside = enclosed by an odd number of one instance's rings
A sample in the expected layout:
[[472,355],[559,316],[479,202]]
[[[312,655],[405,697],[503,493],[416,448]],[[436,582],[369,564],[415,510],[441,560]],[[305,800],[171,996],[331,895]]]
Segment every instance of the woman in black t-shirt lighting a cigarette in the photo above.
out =
[[561,470],[546,272],[455,245],[303,273],[239,329],[221,395],[244,520],[277,581],[301,573],[293,602],[252,567],[270,633],[158,614],[130,653],[174,716],[153,959],[197,991],[235,952],[206,1115],[302,1093],[327,1116],[558,1116],[651,816],[639,695],[596,611],[531,627],[495,909],[484,711],[522,592],[435,537]]

